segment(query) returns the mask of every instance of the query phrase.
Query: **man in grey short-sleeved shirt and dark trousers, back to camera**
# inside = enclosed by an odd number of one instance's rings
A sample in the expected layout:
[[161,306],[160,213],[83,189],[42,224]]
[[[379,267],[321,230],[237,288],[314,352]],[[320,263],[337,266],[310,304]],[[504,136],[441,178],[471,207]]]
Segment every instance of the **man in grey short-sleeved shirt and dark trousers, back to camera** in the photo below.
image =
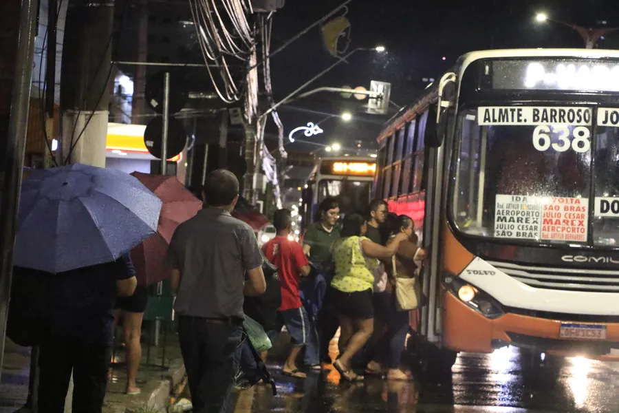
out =
[[202,196],[206,208],[178,226],[168,255],[193,412],[219,413],[239,367],[243,296],[264,293],[266,283],[254,231],[230,215],[237,178],[225,169],[209,173]]

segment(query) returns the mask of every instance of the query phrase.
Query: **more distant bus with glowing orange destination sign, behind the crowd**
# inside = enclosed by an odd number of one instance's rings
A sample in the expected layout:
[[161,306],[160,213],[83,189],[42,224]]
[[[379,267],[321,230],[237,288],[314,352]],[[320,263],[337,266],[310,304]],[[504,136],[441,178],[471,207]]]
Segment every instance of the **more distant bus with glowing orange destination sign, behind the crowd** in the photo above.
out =
[[328,197],[338,200],[341,216],[367,209],[375,173],[376,158],[371,156],[318,158],[302,191],[301,230],[314,222],[318,205]]

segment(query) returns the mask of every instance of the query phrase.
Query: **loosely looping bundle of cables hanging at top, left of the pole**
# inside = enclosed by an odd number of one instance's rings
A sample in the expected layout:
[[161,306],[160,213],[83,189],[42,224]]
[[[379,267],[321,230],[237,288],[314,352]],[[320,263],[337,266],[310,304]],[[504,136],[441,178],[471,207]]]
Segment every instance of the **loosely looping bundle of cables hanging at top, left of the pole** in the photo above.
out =
[[[226,59],[249,61],[255,50],[252,28],[246,17],[253,12],[250,0],[190,0],[189,4],[197,41],[215,91],[226,103],[240,100],[242,91],[232,78]],[[214,74],[217,70],[219,81]],[[255,102],[250,102],[252,106],[257,106],[257,92],[255,97]]]

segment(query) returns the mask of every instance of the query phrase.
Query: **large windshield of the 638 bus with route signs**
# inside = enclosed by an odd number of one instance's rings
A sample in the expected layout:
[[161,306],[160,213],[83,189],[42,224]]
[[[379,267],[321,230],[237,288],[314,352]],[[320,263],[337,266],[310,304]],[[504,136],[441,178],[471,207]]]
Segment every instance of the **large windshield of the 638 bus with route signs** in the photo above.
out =
[[592,125],[591,107],[514,108],[459,114],[451,196],[457,228],[619,246],[619,129],[602,126],[600,112],[599,126]]

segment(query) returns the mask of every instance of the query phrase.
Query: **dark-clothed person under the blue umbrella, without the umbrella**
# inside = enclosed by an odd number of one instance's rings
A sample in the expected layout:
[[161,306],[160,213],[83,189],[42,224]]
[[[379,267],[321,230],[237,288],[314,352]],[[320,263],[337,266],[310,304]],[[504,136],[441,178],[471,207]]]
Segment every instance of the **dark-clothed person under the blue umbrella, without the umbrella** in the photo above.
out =
[[19,276],[53,277],[47,283],[50,306],[39,353],[39,411],[65,411],[73,372],[72,411],[101,412],[113,341],[112,309],[117,295],[131,296],[137,284],[131,258],[59,274],[16,268]]

